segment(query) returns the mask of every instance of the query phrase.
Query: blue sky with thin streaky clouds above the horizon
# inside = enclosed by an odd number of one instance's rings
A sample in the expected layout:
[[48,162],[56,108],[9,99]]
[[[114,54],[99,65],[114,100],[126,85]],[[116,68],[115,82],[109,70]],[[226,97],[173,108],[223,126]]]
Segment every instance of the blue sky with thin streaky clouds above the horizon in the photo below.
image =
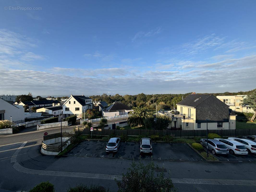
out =
[[0,9],[0,94],[256,88],[255,1],[1,1]]

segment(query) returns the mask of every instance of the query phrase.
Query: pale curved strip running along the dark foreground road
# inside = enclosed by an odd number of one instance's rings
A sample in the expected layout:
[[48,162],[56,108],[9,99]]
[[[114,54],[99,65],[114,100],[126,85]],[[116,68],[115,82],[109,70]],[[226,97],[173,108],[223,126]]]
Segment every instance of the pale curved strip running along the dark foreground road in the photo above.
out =
[[[13,168],[18,172],[33,174],[33,175],[48,175],[48,176],[62,176],[62,177],[80,177],[92,179],[108,179],[108,180],[122,180],[122,175],[109,175],[97,173],[81,173],[81,172],[66,172],[66,171],[49,171],[49,170],[36,170],[28,169],[17,163],[17,155],[20,150],[25,146],[24,142],[11,157],[11,163],[14,163]],[[173,183],[184,184],[206,184],[206,185],[246,185],[256,186],[256,180],[231,180],[231,179],[195,179],[195,178],[171,178]]]

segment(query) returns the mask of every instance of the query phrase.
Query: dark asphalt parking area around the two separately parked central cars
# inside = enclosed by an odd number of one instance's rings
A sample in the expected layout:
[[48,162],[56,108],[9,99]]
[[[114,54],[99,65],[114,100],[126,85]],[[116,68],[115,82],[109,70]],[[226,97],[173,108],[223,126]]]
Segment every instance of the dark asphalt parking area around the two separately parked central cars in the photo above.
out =
[[70,156],[125,158],[165,161],[205,161],[189,145],[184,143],[152,143],[153,155],[140,156],[140,144],[137,142],[121,142],[117,153],[107,154],[107,141],[83,141],[67,153]]

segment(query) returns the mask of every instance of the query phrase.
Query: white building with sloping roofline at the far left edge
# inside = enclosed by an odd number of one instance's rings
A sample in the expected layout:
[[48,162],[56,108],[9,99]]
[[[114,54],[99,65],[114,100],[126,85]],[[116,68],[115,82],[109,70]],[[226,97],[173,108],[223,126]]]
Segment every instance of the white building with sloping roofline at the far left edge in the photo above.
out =
[[25,119],[24,108],[22,105],[15,106],[0,98],[0,120],[21,121]]

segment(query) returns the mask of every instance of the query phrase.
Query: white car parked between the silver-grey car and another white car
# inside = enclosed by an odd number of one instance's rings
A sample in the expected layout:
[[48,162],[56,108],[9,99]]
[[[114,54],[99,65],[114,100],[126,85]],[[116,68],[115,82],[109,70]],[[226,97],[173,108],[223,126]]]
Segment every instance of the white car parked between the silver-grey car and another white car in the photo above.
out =
[[242,143],[239,143],[237,141],[230,140],[230,139],[221,139],[221,138],[215,138],[215,139],[224,143],[226,147],[229,149],[230,154],[248,155],[248,150]]

